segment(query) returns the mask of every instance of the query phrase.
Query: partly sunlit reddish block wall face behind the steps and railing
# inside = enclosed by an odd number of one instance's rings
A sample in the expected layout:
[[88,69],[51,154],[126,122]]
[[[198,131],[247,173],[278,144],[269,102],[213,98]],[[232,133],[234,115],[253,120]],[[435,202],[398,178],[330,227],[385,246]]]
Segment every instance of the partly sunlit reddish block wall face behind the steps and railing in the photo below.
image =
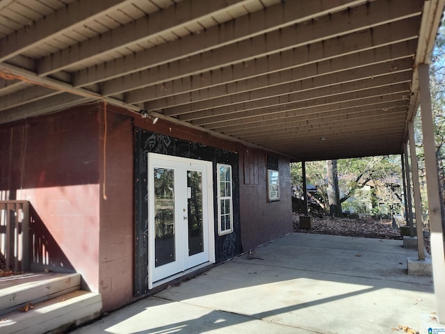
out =
[[99,127],[90,108],[1,127],[0,191],[31,202],[31,269],[75,269],[98,291]]

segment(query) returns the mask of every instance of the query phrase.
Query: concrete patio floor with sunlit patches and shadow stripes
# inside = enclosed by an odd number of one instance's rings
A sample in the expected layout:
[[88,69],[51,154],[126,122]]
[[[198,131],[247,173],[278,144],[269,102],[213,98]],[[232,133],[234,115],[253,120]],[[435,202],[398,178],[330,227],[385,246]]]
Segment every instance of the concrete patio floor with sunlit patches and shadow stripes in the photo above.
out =
[[428,333],[432,278],[402,244],[289,234],[72,333]]

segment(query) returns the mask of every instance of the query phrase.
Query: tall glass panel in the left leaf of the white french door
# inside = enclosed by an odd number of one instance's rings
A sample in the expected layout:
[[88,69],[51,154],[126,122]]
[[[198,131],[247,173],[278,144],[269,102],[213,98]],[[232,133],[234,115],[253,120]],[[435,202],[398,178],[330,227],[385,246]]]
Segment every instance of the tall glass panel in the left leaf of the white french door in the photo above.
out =
[[154,168],[154,266],[175,261],[175,192],[172,169]]

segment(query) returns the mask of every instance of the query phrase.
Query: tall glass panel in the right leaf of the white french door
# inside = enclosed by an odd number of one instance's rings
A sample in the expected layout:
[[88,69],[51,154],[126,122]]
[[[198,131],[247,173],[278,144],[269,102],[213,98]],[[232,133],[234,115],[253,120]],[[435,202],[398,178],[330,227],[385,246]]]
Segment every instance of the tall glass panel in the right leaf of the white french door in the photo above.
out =
[[188,256],[204,251],[202,172],[187,170]]

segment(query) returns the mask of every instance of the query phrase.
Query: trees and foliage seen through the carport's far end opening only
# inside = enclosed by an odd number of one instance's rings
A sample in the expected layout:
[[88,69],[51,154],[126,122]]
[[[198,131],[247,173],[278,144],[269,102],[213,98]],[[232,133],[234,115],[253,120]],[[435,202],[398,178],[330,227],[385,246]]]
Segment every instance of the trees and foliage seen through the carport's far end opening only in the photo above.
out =
[[[335,163],[332,164],[330,161],[306,163],[307,183],[313,184],[317,189],[315,196],[311,193],[308,195],[311,200],[318,203],[321,210],[330,212],[333,216],[341,216],[341,211],[337,210],[341,210],[342,206],[347,211],[372,216],[390,215],[391,212],[400,211],[403,202],[400,157],[341,159]],[[291,175],[294,184],[301,182],[301,164],[291,164]],[[328,194],[329,191],[331,195]],[[338,194],[332,191],[338,191]],[[330,200],[329,196],[334,198]],[[330,205],[335,201],[339,204],[331,209]]]

